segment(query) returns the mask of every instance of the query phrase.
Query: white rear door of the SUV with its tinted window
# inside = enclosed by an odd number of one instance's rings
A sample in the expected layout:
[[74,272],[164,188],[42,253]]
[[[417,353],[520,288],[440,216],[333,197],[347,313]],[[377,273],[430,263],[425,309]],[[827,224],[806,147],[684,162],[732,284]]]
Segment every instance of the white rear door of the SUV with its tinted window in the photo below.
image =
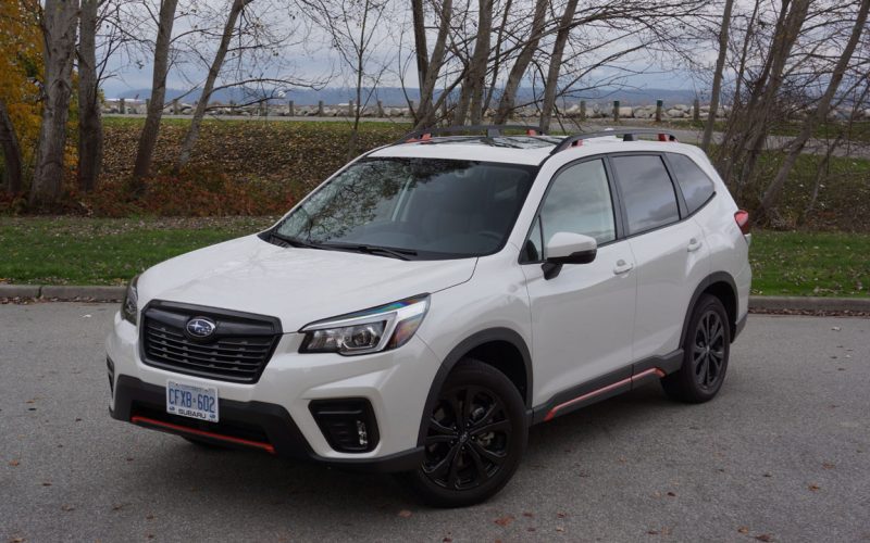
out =
[[658,153],[610,156],[635,260],[634,361],[679,349],[688,303],[709,275],[704,230]]

